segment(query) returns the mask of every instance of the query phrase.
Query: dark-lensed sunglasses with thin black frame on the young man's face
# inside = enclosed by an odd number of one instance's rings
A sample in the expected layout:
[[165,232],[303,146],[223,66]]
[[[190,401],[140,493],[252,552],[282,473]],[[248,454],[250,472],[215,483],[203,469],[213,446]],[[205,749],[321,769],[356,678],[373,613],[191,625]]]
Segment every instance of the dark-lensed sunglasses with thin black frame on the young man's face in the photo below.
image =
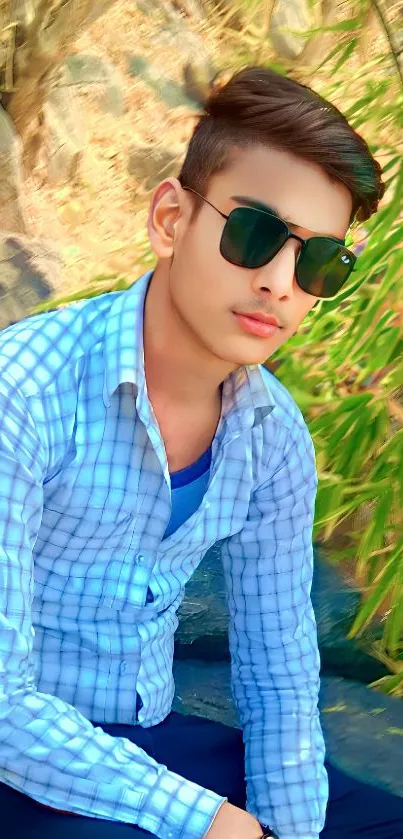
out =
[[211,201],[188,186],[193,192],[225,219],[220,253],[233,265],[241,268],[262,268],[274,259],[288,239],[296,239],[301,249],[295,266],[300,288],[315,297],[334,297],[348,280],[357,257],[341,239],[333,236],[312,236],[302,239],[291,233],[283,219],[255,207],[236,207],[227,216]]

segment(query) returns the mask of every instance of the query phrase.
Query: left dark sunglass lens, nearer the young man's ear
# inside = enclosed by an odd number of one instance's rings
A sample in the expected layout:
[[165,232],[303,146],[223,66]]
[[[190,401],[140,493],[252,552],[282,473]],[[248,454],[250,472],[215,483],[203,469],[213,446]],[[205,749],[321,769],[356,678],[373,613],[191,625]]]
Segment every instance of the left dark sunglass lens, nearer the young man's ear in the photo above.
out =
[[252,207],[237,207],[228,216],[221,238],[224,259],[243,268],[261,268],[287,238],[281,219]]

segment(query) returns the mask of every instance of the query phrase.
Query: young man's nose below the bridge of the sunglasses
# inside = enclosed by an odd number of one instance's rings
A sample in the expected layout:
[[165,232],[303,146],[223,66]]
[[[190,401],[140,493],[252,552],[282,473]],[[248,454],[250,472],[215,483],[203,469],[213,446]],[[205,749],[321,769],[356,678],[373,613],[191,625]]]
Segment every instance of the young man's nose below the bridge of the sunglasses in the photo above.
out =
[[298,242],[289,239],[267,265],[256,269],[252,279],[255,294],[270,294],[278,300],[292,297],[298,251]]

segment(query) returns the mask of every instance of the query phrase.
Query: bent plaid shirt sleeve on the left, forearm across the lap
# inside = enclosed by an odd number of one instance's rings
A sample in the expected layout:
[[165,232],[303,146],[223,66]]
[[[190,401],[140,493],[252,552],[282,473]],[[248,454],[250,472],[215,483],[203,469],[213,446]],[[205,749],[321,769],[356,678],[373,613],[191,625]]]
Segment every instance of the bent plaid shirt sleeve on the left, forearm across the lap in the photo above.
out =
[[35,686],[33,548],[46,461],[27,400],[2,373],[0,780],[57,810],[136,824],[161,839],[201,839],[225,798]]

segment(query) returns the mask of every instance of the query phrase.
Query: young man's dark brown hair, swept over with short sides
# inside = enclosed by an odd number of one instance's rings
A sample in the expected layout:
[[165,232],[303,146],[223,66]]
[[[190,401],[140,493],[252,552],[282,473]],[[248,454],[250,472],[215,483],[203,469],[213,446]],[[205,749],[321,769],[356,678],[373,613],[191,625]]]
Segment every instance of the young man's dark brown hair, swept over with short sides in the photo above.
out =
[[[264,145],[319,164],[353,199],[350,224],[376,212],[385,192],[382,169],[339,109],[307,85],[268,67],[247,67],[213,88],[179,175],[205,195],[237,149]],[[201,202],[197,201],[195,213]]]

